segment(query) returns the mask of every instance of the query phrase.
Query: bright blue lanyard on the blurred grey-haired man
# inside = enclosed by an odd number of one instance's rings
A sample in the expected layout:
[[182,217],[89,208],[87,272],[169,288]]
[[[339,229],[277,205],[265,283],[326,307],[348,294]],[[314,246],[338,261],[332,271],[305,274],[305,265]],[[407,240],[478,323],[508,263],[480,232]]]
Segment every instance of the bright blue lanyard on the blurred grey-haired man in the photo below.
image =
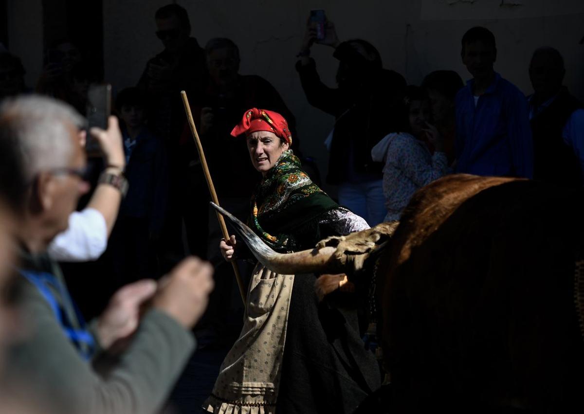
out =
[[[83,319],[83,316],[81,315],[81,312],[79,312],[79,309],[75,306],[75,303],[71,300],[71,297],[69,296],[69,293],[67,292],[63,284],[60,283],[60,281],[57,280],[57,278],[55,278],[52,274],[47,272],[31,272],[29,270],[22,269],[19,269],[19,272],[28,281],[30,281],[30,283],[34,284],[34,286],[39,290],[40,294],[43,295],[45,300],[50,305],[51,309],[53,309],[53,314],[55,315],[55,318],[57,318],[57,321],[61,325],[63,332],[65,333],[65,336],[67,336],[67,338],[69,338],[69,340],[71,340],[74,343],[75,342],[85,343],[87,345],[88,348],[87,351],[82,350],[81,347],[78,345],[77,348],[85,359],[87,360],[90,359],[95,350],[95,339],[93,339],[93,336],[91,335],[91,333],[89,333],[88,330],[84,329],[85,321]],[[67,302],[67,304],[71,305],[71,307],[75,310],[75,315],[77,315],[79,324],[83,328],[75,329],[72,328],[71,326],[67,326],[67,323],[65,323],[65,321],[63,320],[64,309],[62,309],[62,307],[60,307],[60,305],[58,304],[57,299],[55,299],[53,293],[48,288],[49,285],[56,288],[61,294],[62,300],[64,302]]]

